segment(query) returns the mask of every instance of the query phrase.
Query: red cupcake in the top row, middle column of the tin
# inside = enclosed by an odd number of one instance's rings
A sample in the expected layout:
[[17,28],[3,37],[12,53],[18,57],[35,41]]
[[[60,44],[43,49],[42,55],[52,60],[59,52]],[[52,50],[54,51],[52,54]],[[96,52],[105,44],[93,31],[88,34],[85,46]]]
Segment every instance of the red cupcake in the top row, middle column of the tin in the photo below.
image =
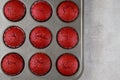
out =
[[52,8],[46,1],[36,1],[31,7],[31,15],[37,21],[46,21],[52,15]]

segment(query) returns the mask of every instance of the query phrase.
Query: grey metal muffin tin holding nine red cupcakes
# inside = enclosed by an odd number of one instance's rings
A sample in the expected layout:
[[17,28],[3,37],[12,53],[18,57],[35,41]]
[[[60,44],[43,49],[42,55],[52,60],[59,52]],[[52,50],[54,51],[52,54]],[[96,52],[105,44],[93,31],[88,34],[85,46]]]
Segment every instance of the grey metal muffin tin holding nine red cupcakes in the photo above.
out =
[[0,0],[0,80],[77,80],[83,0]]

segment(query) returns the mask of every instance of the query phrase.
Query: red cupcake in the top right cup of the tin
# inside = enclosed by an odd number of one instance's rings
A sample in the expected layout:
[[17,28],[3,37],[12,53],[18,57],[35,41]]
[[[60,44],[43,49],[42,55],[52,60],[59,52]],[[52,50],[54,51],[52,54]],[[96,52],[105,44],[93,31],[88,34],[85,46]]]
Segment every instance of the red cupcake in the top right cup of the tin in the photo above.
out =
[[63,1],[57,10],[59,18],[65,22],[74,21],[79,15],[78,6],[72,1]]

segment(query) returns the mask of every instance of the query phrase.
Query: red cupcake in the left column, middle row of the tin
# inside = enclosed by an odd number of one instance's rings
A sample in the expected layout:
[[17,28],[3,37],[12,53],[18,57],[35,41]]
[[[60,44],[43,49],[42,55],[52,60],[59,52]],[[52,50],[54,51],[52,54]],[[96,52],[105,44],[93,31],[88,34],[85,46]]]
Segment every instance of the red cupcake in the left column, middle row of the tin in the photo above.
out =
[[3,39],[8,47],[18,48],[24,43],[25,33],[20,27],[11,26],[4,32]]

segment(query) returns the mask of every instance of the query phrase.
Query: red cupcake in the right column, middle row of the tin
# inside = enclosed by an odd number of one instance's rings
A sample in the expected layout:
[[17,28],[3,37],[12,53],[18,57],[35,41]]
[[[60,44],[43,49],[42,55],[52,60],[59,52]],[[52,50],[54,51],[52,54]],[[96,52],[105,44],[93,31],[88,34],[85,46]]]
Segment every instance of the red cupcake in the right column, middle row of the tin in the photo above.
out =
[[66,49],[75,47],[79,41],[78,34],[72,27],[64,27],[57,34],[58,44]]

